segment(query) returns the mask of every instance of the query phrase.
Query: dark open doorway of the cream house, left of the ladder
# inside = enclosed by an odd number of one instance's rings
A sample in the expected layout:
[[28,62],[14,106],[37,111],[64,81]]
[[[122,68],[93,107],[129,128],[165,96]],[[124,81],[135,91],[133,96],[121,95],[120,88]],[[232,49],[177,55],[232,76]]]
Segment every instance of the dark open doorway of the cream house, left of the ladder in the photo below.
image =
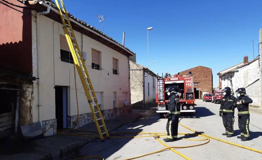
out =
[[67,128],[67,87],[56,86],[57,128]]

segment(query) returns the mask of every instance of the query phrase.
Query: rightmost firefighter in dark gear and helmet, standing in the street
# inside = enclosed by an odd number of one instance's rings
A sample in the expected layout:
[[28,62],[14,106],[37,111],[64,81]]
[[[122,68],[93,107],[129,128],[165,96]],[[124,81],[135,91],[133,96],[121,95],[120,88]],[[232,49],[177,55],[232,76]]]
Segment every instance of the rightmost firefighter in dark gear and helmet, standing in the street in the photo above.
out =
[[237,138],[241,139],[241,141],[248,140],[249,134],[249,121],[250,115],[248,110],[249,103],[252,103],[253,100],[246,95],[245,88],[239,88],[236,90],[237,92],[237,102],[236,107],[238,110],[238,127],[240,129],[240,136]]

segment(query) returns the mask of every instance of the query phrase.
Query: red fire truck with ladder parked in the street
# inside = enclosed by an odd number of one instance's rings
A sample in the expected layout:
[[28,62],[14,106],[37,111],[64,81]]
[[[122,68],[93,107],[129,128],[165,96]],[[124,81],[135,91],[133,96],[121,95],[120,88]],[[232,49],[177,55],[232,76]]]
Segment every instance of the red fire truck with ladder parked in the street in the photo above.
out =
[[180,112],[195,114],[195,94],[193,76],[180,76],[170,74],[163,77],[158,76],[156,81],[156,102],[158,103],[158,110],[156,112],[164,116],[168,112],[167,102],[168,96],[164,93],[164,90],[168,86],[173,86],[178,89],[181,94],[179,96]]

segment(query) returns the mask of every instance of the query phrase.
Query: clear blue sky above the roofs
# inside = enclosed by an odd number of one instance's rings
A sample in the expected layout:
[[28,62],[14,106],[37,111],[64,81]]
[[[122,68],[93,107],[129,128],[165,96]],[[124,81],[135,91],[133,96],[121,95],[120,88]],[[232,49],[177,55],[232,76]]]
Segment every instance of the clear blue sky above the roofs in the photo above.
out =
[[[198,65],[217,73],[258,56],[262,28],[262,0],[65,0],[67,11],[102,30],[97,14],[104,15],[104,32],[147,62],[155,73],[177,73]],[[155,61],[156,63],[153,63]]]

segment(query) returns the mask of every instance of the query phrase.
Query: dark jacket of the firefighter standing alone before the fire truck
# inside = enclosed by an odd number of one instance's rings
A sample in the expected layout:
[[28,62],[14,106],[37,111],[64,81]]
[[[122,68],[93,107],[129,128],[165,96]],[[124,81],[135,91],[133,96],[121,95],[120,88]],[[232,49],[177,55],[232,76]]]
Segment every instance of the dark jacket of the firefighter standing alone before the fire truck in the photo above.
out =
[[179,97],[176,94],[170,95],[168,99],[168,113],[179,115],[180,114],[180,105],[179,105]]

